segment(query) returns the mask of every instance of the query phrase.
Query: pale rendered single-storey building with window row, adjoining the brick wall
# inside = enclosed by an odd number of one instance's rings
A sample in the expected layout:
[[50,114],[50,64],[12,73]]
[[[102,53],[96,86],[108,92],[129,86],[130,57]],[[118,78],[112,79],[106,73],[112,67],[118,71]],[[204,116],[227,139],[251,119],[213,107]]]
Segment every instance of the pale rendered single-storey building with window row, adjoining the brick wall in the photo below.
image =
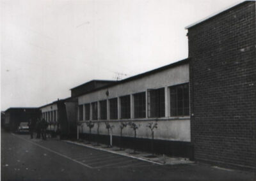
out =
[[115,144],[119,143],[121,124],[132,122],[138,126],[136,138],[134,129],[127,126],[122,129],[123,144],[126,140],[127,144],[147,148],[152,138],[148,126],[157,123],[157,152],[191,156],[189,59],[93,89],[77,99],[79,121],[95,123],[91,130],[83,124],[80,133],[91,131],[95,136],[108,137],[108,122]]

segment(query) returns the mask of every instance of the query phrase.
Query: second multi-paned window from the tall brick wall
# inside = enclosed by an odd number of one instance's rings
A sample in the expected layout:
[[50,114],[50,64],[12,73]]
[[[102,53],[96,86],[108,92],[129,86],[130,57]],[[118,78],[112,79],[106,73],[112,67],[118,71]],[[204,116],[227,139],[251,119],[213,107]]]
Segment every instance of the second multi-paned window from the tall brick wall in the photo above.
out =
[[164,117],[164,88],[148,91],[148,117]]

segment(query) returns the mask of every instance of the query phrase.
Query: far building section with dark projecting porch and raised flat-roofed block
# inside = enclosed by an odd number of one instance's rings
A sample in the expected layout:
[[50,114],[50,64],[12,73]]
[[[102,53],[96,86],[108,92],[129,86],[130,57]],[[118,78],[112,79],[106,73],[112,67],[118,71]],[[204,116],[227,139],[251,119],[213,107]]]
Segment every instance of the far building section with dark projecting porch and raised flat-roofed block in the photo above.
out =
[[61,134],[61,137],[76,136],[77,133],[77,96],[103,87],[115,81],[92,80],[70,89],[71,97],[58,99],[41,106],[42,117],[48,122],[48,130]]

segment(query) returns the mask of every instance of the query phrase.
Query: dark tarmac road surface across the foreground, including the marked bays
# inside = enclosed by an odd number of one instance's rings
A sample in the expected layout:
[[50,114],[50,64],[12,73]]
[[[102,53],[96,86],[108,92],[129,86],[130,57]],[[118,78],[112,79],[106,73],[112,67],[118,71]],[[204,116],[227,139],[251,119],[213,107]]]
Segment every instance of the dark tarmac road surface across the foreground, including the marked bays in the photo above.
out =
[[255,175],[207,164],[162,166],[2,130],[1,180],[255,180]]

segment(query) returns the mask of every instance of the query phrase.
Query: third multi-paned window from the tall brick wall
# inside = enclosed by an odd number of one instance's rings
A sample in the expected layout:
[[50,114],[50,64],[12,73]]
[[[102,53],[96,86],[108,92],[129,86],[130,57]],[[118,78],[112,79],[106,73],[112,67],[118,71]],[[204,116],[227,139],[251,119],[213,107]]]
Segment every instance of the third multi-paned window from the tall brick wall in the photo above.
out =
[[134,118],[146,117],[146,94],[141,92],[133,95],[134,98]]

